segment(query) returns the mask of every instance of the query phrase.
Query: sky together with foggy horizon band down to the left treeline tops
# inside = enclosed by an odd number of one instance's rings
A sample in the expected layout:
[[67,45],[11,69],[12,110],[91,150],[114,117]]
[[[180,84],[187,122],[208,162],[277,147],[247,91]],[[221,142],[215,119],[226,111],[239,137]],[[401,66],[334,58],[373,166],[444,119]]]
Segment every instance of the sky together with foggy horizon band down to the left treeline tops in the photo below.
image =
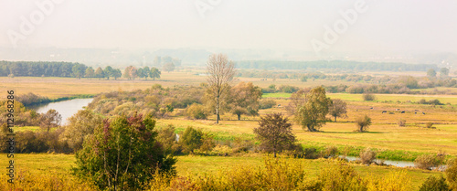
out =
[[[457,2],[69,1],[0,3],[0,59],[134,64],[344,59],[457,62]],[[448,65],[449,63],[449,65]]]

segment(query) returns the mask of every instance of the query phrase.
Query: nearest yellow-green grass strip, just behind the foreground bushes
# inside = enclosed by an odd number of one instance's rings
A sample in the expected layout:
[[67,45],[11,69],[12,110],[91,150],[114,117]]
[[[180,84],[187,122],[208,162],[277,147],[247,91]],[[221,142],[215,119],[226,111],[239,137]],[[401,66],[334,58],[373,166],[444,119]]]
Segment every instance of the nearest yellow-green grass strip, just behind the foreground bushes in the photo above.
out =
[[[204,175],[218,171],[223,171],[236,165],[257,166],[263,164],[263,157],[260,154],[250,154],[241,156],[178,156],[176,171],[178,175]],[[73,154],[16,154],[15,163],[18,172],[28,171],[34,175],[69,175],[70,169],[74,166],[75,157]],[[314,177],[318,175],[319,170],[324,167],[324,159],[321,160],[306,160],[305,164],[306,175]],[[0,165],[7,165],[5,154],[0,155]],[[361,175],[383,175],[390,171],[405,170],[410,176],[414,187],[419,187],[420,184],[429,175],[440,175],[441,172],[430,172],[419,169],[403,169],[398,167],[388,166],[367,166],[361,164],[353,164]],[[71,176],[69,176],[71,177]],[[0,184],[1,185],[1,184]]]

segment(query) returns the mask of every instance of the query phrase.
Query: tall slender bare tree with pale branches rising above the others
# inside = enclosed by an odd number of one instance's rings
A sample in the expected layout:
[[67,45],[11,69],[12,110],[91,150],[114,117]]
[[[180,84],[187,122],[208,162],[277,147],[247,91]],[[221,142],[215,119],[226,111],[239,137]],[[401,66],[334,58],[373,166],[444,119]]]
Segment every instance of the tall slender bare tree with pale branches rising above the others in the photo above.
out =
[[226,96],[228,83],[235,76],[235,65],[226,55],[213,54],[207,59],[207,84],[212,92],[216,109],[216,123],[219,123],[220,99]]

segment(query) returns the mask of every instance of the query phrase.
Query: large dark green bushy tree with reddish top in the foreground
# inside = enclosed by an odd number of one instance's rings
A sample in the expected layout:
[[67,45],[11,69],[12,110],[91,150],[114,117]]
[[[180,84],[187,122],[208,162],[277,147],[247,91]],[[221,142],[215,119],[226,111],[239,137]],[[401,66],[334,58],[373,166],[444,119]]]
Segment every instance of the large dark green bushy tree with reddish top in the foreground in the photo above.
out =
[[105,120],[76,153],[73,173],[103,190],[138,190],[156,172],[175,174],[176,159],[165,155],[154,126],[136,114]]

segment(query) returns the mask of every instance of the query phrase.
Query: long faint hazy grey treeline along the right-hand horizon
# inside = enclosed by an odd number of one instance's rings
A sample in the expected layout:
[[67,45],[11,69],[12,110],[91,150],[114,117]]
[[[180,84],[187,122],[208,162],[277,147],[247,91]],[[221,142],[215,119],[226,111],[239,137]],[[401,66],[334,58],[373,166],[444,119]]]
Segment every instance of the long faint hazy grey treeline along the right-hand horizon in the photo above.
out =
[[427,71],[437,69],[434,64],[405,64],[395,62],[356,62],[345,60],[333,61],[274,61],[253,60],[238,61],[238,69],[347,69],[373,71]]

